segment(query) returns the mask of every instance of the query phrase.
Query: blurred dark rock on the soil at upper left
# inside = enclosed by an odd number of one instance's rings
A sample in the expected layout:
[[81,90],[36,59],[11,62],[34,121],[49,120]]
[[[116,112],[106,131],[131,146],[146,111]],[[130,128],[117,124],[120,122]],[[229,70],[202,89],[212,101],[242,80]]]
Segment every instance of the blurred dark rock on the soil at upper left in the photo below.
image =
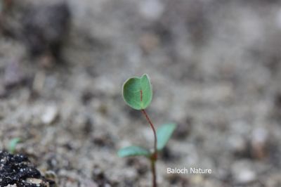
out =
[[69,23],[70,9],[65,2],[31,7],[23,20],[23,33],[31,55],[51,53],[60,59]]

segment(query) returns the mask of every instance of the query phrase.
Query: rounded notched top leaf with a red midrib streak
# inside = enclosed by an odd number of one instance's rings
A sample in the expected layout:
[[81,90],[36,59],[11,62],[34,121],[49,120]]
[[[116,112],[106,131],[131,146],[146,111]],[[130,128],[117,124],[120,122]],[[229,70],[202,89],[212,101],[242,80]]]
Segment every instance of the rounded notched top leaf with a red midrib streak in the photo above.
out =
[[127,79],[123,84],[122,95],[131,108],[136,110],[147,108],[152,101],[152,85],[148,75]]

